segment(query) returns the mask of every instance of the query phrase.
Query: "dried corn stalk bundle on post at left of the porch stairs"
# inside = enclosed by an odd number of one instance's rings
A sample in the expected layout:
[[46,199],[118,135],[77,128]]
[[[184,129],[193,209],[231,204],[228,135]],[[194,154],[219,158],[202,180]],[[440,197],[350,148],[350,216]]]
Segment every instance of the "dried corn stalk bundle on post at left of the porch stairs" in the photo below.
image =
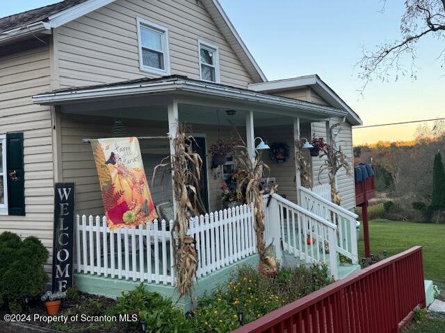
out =
[[[250,205],[253,203],[255,225],[254,230],[257,236],[257,251],[261,264],[270,269],[275,269],[276,263],[273,253],[266,251],[266,244],[264,243],[264,212],[263,212],[263,194],[264,190],[260,189],[260,180],[264,173],[269,172],[270,169],[266,163],[261,160],[261,153],[256,151],[255,157],[251,158],[248,148],[239,135],[236,128],[234,129],[238,139],[236,140],[236,162],[239,169],[245,171],[244,178],[239,178],[236,183],[236,191],[241,191],[245,187],[245,198]],[[276,185],[270,189],[270,195],[276,190]]]

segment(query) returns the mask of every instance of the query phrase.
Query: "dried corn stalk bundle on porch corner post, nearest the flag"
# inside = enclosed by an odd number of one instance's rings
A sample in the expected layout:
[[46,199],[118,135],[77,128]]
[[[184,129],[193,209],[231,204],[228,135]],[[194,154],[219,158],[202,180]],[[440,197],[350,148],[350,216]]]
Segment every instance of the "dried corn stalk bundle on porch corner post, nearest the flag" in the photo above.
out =
[[[159,168],[167,167],[165,173],[173,171],[173,191],[176,201],[176,216],[172,233],[172,239],[176,240],[173,246],[175,256],[176,283],[181,296],[190,295],[193,292],[194,280],[197,270],[197,252],[193,237],[188,236],[188,214],[204,213],[202,210],[202,198],[200,196],[202,159],[198,153],[194,153],[192,143],[195,139],[186,135],[186,126],[183,123],[177,125],[177,135],[170,138],[175,147],[173,155],[165,157],[161,164],[154,168],[152,183]],[[161,182],[162,182],[161,178]]]

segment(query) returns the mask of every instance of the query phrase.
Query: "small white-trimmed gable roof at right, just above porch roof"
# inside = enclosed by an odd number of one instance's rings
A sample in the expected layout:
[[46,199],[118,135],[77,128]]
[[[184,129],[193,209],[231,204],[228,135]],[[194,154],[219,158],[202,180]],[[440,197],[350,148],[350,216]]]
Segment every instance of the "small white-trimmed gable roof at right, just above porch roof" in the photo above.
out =
[[355,111],[346,104],[340,96],[334,92],[329,85],[327,85],[317,74],[299,76],[298,78],[286,78],[284,80],[273,80],[263,83],[251,83],[248,85],[249,89],[255,92],[266,92],[273,94],[274,92],[289,91],[291,89],[299,89],[303,87],[310,87],[325,100],[333,108],[339,108],[348,112],[348,122],[353,126],[362,125],[362,119]]

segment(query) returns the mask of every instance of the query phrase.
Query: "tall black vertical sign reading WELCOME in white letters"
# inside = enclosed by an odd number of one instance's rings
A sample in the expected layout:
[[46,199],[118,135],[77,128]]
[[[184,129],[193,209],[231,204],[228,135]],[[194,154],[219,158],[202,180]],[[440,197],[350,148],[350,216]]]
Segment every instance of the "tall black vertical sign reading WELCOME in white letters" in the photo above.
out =
[[66,291],[72,287],[74,193],[74,182],[56,182],[54,187],[53,292]]

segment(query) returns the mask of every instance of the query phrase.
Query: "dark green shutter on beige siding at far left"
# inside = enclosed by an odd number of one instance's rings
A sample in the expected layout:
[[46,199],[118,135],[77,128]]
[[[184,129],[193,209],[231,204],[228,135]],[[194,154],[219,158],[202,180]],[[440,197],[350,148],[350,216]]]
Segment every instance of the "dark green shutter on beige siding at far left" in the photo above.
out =
[[8,171],[8,214],[25,214],[23,133],[6,134],[6,166]]

